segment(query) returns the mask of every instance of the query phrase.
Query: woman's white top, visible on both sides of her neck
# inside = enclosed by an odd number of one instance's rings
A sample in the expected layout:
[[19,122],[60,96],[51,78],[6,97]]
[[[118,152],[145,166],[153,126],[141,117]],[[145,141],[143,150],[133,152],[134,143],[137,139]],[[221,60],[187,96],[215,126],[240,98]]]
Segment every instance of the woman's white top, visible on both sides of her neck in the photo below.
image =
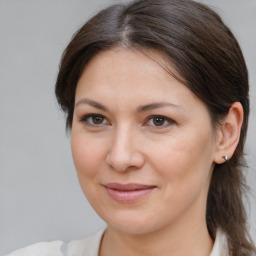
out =
[[[6,256],[98,256],[104,230],[82,240],[64,243],[62,241],[36,243],[14,251]],[[228,256],[227,238],[217,230],[210,256]]]

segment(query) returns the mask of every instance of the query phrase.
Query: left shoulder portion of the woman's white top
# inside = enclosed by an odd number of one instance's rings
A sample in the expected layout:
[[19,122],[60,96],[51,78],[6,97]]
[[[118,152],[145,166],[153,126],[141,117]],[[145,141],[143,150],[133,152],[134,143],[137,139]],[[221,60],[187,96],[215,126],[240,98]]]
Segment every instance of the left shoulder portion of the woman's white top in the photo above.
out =
[[16,250],[6,256],[97,256],[104,230],[81,240],[41,242]]

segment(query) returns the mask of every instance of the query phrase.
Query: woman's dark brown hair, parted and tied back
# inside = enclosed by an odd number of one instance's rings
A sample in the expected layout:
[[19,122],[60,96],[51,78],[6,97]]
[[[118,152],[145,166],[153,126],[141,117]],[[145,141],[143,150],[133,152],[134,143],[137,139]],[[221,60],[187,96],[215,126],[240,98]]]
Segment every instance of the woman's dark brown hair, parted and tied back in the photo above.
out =
[[176,77],[207,106],[213,125],[241,102],[244,121],[233,157],[215,165],[207,200],[210,235],[220,226],[233,256],[255,252],[246,227],[242,196],[248,124],[248,74],[229,28],[207,6],[192,0],[138,0],[112,5],[91,18],[66,48],[56,82],[56,97],[72,126],[77,81],[88,61],[101,51],[129,47],[154,49],[175,67]]

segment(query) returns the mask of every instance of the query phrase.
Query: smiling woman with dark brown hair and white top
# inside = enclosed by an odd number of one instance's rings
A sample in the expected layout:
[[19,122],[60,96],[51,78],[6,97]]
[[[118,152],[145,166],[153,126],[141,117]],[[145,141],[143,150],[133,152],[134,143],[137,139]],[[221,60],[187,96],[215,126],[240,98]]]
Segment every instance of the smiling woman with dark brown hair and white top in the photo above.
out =
[[188,0],[113,5],[64,52],[56,96],[106,230],[11,255],[254,255],[242,203],[249,100],[240,47]]

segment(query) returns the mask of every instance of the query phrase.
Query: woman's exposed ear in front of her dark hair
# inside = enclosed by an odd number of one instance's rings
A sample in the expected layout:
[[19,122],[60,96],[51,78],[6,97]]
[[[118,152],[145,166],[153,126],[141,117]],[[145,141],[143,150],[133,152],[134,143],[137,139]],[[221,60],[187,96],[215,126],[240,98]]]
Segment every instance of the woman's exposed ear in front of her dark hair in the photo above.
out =
[[213,161],[222,164],[230,159],[235,152],[240,138],[241,126],[243,123],[243,107],[240,102],[234,102],[228,114],[221,121],[217,128],[216,151]]

